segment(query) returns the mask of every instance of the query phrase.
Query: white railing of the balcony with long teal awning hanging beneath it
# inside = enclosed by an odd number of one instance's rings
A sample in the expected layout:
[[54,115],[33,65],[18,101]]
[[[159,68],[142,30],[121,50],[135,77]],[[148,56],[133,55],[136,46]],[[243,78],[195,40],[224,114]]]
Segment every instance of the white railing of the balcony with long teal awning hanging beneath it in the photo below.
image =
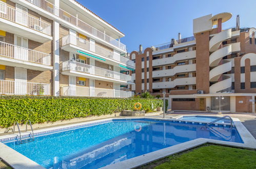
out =
[[80,38],[80,37],[76,37],[74,35],[67,35],[65,37],[62,38],[62,46],[71,44],[71,45],[75,45],[77,47],[86,49],[86,50],[90,50],[92,52],[95,52],[97,54],[103,55],[105,57],[111,58],[113,60],[116,61],[120,61],[123,62],[126,65],[129,65],[131,67],[135,67],[134,62],[126,57],[121,56],[120,54],[115,54],[110,50],[107,50],[99,45],[96,44],[92,44],[90,43],[90,41]]

